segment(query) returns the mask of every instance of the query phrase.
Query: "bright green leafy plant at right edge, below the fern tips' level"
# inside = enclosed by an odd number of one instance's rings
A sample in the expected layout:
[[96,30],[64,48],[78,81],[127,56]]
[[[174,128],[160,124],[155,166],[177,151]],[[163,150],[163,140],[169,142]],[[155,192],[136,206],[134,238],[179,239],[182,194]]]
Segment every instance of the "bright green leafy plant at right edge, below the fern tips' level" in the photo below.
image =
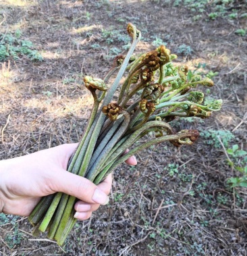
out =
[[247,187],[247,151],[239,149],[238,145],[233,145],[231,149],[227,149],[227,154],[231,157],[231,159],[227,159],[228,164],[242,174],[240,177],[229,178],[227,184],[231,188]]

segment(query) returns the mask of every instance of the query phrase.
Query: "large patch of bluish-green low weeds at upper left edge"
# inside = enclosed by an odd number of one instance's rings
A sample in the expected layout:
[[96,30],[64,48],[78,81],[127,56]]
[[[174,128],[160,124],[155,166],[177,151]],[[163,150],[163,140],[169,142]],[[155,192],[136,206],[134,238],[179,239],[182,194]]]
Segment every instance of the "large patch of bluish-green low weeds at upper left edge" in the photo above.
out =
[[0,34],[0,61],[9,57],[18,59],[20,56],[27,56],[32,61],[42,61],[42,56],[34,49],[31,41],[20,40],[21,32],[16,30],[12,34]]

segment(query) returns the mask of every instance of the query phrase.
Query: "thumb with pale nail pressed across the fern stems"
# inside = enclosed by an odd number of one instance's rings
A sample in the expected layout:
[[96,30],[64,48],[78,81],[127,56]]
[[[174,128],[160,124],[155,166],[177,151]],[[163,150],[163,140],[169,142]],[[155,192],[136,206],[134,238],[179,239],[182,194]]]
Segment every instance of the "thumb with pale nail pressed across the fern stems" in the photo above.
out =
[[109,197],[97,185],[90,180],[72,174],[65,170],[59,170],[59,174],[55,175],[55,182],[52,182],[52,190],[55,192],[63,192],[73,197],[87,202],[99,203],[106,205]]

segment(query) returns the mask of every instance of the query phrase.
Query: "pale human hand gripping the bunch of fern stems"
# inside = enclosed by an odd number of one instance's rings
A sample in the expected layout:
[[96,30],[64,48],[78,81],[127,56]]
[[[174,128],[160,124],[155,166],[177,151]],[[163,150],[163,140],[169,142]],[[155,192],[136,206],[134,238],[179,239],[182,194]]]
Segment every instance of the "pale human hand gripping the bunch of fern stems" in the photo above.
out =
[[[77,144],[65,144],[23,157],[0,161],[0,212],[28,216],[41,197],[62,192],[77,197],[78,220],[86,220],[108,203],[111,174],[98,186],[66,171]],[[135,157],[126,161],[136,165]]]

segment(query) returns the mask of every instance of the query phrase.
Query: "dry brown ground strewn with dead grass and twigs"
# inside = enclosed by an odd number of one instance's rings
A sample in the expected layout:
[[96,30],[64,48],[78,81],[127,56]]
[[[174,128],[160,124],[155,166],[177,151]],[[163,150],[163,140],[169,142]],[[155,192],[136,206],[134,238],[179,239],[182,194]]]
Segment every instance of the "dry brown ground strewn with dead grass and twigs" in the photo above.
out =
[[92,107],[82,78],[103,78],[113,57],[126,53],[128,22],[142,31],[136,53],[165,43],[176,63],[211,72],[208,98],[223,99],[207,120],[173,122],[199,130],[192,147],[157,145],[136,155],[135,168],[122,165],[109,205],[78,222],[62,248],[33,237],[25,217],[1,214],[0,255],[247,255],[247,190],[227,185],[240,174],[225,153],[232,145],[247,151],[247,42],[236,32],[246,31],[247,4],[228,1],[214,18],[214,1],[197,1],[207,2],[203,10],[192,2],[0,2],[1,34],[18,31],[43,57],[1,62],[0,159],[79,140]]

